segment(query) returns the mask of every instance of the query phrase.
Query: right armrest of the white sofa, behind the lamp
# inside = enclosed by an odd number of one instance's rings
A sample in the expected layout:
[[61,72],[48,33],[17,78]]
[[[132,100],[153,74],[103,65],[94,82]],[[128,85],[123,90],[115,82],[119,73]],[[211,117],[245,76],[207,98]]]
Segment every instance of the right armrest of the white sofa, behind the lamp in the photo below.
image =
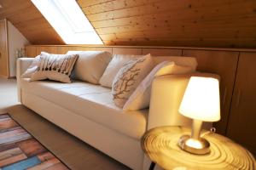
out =
[[156,77],[152,83],[148,129],[160,126],[190,126],[191,120],[178,113],[191,75]]

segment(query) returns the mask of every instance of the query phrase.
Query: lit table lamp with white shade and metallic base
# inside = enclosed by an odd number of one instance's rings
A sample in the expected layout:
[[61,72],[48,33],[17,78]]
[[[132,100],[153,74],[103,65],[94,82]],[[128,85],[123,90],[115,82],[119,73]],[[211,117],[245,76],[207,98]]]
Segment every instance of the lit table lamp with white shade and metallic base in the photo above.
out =
[[193,154],[207,154],[210,144],[200,136],[202,122],[217,122],[220,119],[218,79],[190,77],[183,100],[178,110],[183,116],[193,119],[191,136],[183,135],[178,145]]

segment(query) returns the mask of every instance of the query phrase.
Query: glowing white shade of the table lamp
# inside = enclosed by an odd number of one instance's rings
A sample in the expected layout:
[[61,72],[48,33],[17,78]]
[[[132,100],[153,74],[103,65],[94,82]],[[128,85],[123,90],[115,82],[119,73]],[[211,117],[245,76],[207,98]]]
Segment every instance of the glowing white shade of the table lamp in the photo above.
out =
[[212,77],[190,77],[178,111],[183,116],[204,122],[219,121],[218,79]]

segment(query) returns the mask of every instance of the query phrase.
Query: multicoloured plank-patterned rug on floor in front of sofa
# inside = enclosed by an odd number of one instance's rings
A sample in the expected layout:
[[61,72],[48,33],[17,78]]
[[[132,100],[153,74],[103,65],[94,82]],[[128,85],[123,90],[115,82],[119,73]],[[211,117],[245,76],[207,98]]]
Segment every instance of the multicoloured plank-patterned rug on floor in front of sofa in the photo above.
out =
[[66,170],[68,167],[8,114],[0,115],[0,170],[21,169]]

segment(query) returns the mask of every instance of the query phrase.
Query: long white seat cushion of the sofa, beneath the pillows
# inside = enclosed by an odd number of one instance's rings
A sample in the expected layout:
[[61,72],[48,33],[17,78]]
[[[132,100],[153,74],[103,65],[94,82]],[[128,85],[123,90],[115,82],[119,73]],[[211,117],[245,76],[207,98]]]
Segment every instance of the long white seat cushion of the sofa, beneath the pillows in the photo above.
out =
[[111,88],[88,82],[29,82],[29,78],[22,78],[20,83],[23,93],[47,99],[131,138],[140,139],[146,131],[148,110],[123,111],[114,105]]

